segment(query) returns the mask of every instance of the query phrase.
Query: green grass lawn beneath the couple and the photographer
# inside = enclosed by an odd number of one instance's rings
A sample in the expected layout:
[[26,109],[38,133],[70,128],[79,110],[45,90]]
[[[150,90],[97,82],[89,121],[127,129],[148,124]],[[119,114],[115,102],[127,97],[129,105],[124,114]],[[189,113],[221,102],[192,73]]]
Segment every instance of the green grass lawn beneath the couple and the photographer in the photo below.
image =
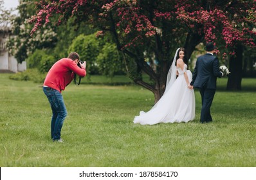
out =
[[201,100],[196,90],[196,120],[189,123],[139,125],[154,95],[119,76],[70,84],[62,93],[68,117],[64,143],[50,139],[51,109],[41,84],[15,81],[0,74],[1,167],[255,167],[256,79],[244,89],[225,91],[218,79],[212,105],[214,122],[199,123]]

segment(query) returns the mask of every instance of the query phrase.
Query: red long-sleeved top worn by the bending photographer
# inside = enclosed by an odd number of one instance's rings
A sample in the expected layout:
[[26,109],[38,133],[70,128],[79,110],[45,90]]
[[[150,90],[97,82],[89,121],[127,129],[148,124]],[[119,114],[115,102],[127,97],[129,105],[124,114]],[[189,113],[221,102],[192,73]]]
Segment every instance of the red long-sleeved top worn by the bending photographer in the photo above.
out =
[[73,80],[74,73],[78,76],[86,76],[86,69],[77,66],[70,58],[62,58],[55,62],[44,80],[44,85],[56,89],[61,93]]

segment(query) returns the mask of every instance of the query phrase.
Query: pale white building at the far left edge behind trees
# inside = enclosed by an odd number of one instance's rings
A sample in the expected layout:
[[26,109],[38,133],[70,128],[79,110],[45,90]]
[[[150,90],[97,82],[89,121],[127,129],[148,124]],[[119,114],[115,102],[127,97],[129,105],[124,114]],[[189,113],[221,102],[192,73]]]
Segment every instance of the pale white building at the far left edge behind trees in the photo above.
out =
[[8,53],[5,43],[9,31],[0,30],[0,73],[17,73],[26,71],[26,62],[18,63],[16,58]]

